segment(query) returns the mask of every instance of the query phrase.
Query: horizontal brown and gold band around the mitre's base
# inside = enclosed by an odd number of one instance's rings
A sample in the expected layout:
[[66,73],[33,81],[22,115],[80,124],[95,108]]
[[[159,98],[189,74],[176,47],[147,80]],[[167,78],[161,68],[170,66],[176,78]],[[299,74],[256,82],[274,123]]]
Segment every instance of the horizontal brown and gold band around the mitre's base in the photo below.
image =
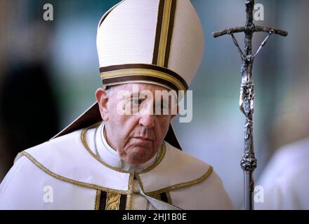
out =
[[[151,75],[148,76],[147,72],[141,76],[139,73],[134,73],[134,69],[146,69],[146,71],[164,73],[164,76],[168,76],[169,80],[159,75],[155,77]],[[110,73],[121,71],[124,71],[125,74],[122,76],[110,76]],[[188,84],[178,75],[178,73],[152,64],[121,64],[106,66],[100,68],[100,73],[104,85],[117,85],[117,83],[143,83],[143,81],[147,83],[147,81],[149,81],[165,85],[171,90],[188,90]]]

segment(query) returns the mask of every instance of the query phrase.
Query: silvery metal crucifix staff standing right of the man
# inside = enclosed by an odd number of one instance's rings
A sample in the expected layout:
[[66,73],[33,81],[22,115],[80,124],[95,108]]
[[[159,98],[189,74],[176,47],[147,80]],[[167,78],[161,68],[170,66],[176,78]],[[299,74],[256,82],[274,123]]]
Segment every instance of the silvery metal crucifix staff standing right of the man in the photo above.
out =
[[[244,125],[244,154],[240,165],[244,170],[244,208],[246,210],[254,209],[254,169],[256,169],[257,160],[254,155],[254,132],[253,132],[253,115],[254,115],[254,80],[253,80],[253,65],[254,59],[258,52],[263,48],[268,38],[272,34],[280,36],[287,36],[287,31],[280,29],[273,29],[270,27],[260,27],[254,25],[254,0],[247,0],[246,5],[246,25],[244,27],[235,27],[225,29],[223,31],[213,32],[213,37],[223,36],[229,34],[242,57],[242,85],[240,87],[239,107],[240,111],[244,113],[246,122]],[[253,54],[252,50],[252,36],[254,32],[266,32],[265,40],[261,43],[260,47]],[[244,52],[239,47],[239,44],[234,36],[235,33],[244,32]]]

